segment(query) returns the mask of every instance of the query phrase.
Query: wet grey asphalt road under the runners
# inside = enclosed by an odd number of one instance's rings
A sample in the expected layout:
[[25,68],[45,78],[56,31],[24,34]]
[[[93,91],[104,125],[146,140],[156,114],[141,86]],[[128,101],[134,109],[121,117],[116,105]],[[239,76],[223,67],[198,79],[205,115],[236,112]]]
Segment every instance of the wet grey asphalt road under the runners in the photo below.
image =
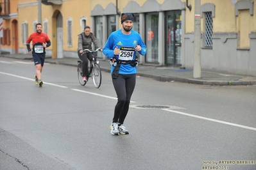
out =
[[137,77],[124,125],[110,73],[81,86],[76,67],[0,58],[0,169],[256,169],[256,86]]

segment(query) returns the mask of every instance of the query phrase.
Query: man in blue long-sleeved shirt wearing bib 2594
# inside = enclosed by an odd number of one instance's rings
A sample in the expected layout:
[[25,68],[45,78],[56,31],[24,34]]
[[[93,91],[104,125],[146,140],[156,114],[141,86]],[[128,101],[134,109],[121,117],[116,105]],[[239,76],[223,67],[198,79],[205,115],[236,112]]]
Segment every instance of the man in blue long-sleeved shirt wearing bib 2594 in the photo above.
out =
[[114,118],[110,126],[112,135],[129,134],[124,127],[124,119],[128,113],[130,99],[135,88],[137,62],[136,52],[146,54],[146,45],[139,33],[132,30],[134,22],[133,13],[122,13],[122,29],[114,31],[108,37],[103,48],[103,54],[112,58],[111,73],[117,104],[115,105]]

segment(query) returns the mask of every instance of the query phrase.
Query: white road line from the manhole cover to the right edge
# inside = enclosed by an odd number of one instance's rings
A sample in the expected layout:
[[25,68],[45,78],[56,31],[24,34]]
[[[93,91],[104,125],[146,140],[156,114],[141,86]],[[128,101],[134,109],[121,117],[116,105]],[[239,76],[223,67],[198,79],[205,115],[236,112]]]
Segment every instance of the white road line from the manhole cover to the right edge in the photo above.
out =
[[227,122],[227,121],[221,121],[221,120],[214,120],[214,119],[211,119],[211,118],[205,118],[203,116],[196,116],[194,114],[188,114],[188,113],[185,113],[185,112],[179,112],[179,111],[173,111],[171,109],[162,109],[164,111],[168,111],[168,112],[174,112],[174,113],[177,113],[177,114],[183,114],[185,116],[191,116],[193,118],[199,118],[201,120],[208,120],[208,121],[214,121],[214,122],[217,122],[217,123],[223,123],[223,124],[226,124],[226,125],[231,125],[231,126],[234,126],[234,127],[241,127],[241,128],[247,128],[247,129],[250,129],[250,130],[255,130],[256,131],[256,128],[253,128],[253,127],[246,127],[244,125],[239,125],[239,124],[235,124],[235,123],[230,123],[230,122]]

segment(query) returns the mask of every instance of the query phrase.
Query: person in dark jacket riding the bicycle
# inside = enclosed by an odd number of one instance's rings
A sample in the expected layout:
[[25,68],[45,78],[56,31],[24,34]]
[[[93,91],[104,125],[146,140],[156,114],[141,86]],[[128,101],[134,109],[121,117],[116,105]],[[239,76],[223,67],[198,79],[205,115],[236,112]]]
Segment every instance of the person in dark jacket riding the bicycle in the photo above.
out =
[[[95,38],[95,36],[90,32],[90,27],[85,26],[83,29],[83,33],[78,35],[78,57],[83,61],[82,64],[82,72],[83,72],[83,81],[87,81],[89,78],[89,71],[88,71],[88,59],[92,62],[92,53],[86,52],[83,53],[84,49],[92,50],[92,43],[94,43],[96,49],[99,48],[99,44]],[[101,49],[102,51],[102,49]],[[88,58],[88,59],[87,59]],[[96,60],[97,55],[94,55],[94,59]]]

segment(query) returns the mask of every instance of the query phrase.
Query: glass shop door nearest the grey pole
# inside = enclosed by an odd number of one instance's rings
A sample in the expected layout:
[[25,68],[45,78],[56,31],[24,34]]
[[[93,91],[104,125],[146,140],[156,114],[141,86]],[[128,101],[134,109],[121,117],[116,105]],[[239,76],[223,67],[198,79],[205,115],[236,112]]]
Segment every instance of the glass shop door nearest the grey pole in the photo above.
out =
[[166,13],[166,65],[181,66],[180,50],[182,47],[181,11]]

